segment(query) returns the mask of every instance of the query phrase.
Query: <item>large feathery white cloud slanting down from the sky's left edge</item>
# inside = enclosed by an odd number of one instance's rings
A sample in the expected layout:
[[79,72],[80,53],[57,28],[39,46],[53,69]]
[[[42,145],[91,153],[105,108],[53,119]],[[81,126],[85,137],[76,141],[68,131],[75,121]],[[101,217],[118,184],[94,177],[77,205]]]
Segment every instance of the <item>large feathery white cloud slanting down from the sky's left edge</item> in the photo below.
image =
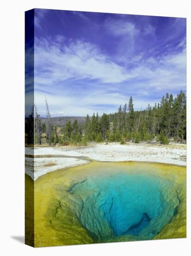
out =
[[103,83],[122,82],[129,74],[111,61],[96,46],[76,41],[69,46],[51,45],[48,40],[35,42],[35,81],[52,84],[69,78],[98,79]]

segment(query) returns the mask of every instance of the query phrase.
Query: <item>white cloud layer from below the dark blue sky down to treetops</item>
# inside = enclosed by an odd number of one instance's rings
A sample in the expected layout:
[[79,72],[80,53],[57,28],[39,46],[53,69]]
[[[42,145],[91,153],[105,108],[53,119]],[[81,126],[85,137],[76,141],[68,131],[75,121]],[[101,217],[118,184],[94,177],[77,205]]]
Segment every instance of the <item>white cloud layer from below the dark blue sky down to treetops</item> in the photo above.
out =
[[[144,59],[142,54],[137,55],[133,60],[136,65],[127,69],[93,44],[70,40],[66,45],[63,40],[35,41],[35,101],[41,115],[45,115],[44,94],[52,115],[92,115],[116,111],[132,92],[135,108],[143,109],[155,101],[145,101],[140,95],[147,97],[154,90],[160,98],[164,90],[185,89],[185,48],[161,57]],[[82,86],[80,94],[75,94],[71,80],[76,85],[78,81],[83,84],[84,79],[92,81],[96,91],[83,92]]]

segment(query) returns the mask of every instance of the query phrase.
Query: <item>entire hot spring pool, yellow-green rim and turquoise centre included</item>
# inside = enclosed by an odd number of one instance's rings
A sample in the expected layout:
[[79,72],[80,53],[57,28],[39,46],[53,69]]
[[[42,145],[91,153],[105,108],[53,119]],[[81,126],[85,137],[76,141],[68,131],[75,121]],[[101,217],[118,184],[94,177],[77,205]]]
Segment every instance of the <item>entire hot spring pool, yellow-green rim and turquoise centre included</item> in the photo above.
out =
[[185,167],[91,162],[25,182],[35,247],[186,237]]

